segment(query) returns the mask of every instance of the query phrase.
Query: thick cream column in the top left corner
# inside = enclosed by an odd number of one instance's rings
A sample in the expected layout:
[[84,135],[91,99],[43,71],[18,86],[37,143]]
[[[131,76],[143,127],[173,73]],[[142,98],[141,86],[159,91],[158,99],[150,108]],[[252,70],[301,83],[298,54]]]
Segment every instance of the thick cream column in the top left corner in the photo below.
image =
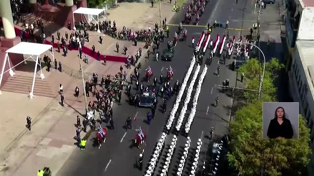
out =
[[16,35],[9,0],[0,0],[0,14],[2,16],[4,37],[6,39],[14,39]]

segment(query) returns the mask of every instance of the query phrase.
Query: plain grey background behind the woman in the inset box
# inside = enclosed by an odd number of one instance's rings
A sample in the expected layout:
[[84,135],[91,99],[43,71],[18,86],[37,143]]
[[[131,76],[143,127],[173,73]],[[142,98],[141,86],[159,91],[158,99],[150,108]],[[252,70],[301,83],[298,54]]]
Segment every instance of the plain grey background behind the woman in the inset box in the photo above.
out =
[[299,138],[299,103],[298,102],[264,102],[263,103],[263,138],[268,139],[267,130],[270,120],[275,118],[278,107],[285,109],[286,118],[290,120],[293,129],[293,139]]

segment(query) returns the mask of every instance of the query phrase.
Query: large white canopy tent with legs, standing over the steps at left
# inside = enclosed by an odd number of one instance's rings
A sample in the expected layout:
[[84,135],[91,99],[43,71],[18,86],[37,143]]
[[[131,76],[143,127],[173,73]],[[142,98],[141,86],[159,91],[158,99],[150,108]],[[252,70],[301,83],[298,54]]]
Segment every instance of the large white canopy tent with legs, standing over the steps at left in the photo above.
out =
[[[52,58],[54,60],[53,47],[50,44],[35,44],[35,43],[21,42],[15,46],[11,47],[10,49],[6,50],[5,51],[5,58],[4,58],[3,66],[2,66],[2,71],[1,71],[1,75],[0,75],[0,85],[1,85],[2,77],[3,77],[4,73],[9,72],[10,76],[14,76],[15,73],[13,72],[12,68],[14,68],[14,67],[16,67],[22,63],[26,64],[26,60],[31,58],[35,61],[35,69],[34,69],[33,84],[31,87],[31,92],[29,93],[29,97],[33,98],[34,97],[33,91],[34,91],[34,84],[35,84],[35,76],[36,76],[38,65],[40,66],[40,73],[41,73],[40,78],[41,79],[45,78],[45,76],[42,72],[41,62],[38,62],[38,60],[40,58],[40,55],[43,54],[44,52],[48,51],[49,49],[52,49],[52,52],[50,54],[52,55]],[[20,62],[19,64],[11,67],[11,64],[9,61],[10,58],[9,58],[8,53],[23,54],[23,55],[28,55],[28,57],[26,59],[24,58],[24,60],[22,62]],[[34,56],[36,56],[36,60],[33,58]],[[9,69],[4,71],[6,62],[8,62]]]

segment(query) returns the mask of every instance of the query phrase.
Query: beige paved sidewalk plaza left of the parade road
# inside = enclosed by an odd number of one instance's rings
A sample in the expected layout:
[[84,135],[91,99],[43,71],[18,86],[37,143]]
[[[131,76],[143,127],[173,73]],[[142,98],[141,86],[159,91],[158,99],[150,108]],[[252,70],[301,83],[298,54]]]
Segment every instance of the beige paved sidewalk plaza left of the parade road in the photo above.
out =
[[[154,8],[149,7],[150,5],[150,3],[135,2],[119,3],[117,8],[109,10],[109,19],[112,22],[115,20],[117,25],[125,22],[124,25],[127,27],[131,24],[134,25],[133,22],[136,22],[137,27],[148,27],[148,23],[154,25],[155,22],[159,22],[159,17],[155,15],[159,14],[159,9],[155,7],[156,4]],[[167,21],[170,21],[174,14],[171,11],[172,6],[168,1],[162,1],[161,7],[162,18],[166,17]],[[127,9],[130,15],[127,19],[122,19],[121,12]],[[147,15],[143,16],[143,14]],[[104,44],[99,46],[102,48],[100,50],[112,53],[116,42],[110,41],[110,44],[107,44],[109,42],[106,43],[106,40],[110,39],[106,39],[106,37],[104,38]],[[90,40],[95,40],[94,44],[96,44],[98,38],[92,39],[90,37]],[[120,42],[120,49],[124,46],[124,43],[131,44],[130,41]],[[132,51],[134,53],[128,51],[130,55],[135,53],[135,51]],[[146,52],[147,49],[142,48],[143,57],[146,56]],[[3,105],[4,123],[0,124],[0,129],[2,132],[1,139],[5,143],[0,145],[0,176],[33,176],[38,169],[45,166],[50,167],[52,175],[55,176],[70,154],[77,148],[74,145],[76,141],[73,139],[76,130],[74,124],[76,123],[76,116],[79,113],[84,113],[84,108],[82,108],[84,107],[84,100],[81,80],[73,74],[71,75],[71,73],[78,71],[78,52],[69,51],[67,57],[61,56],[61,53],[58,52],[54,52],[54,54],[56,60],[61,61],[63,64],[63,72],[52,69],[48,73],[45,70],[46,67],[43,67],[43,73],[52,86],[51,89],[55,93],[55,98],[36,96],[29,101],[26,94],[2,91],[0,103]],[[89,61],[88,65],[82,62],[85,72],[96,72],[99,75],[116,74],[121,65],[121,63],[107,62],[104,67],[103,62],[94,59],[89,59]],[[131,70],[128,70],[129,73]],[[65,107],[61,107],[59,104],[60,97],[57,94],[59,84],[64,86]],[[78,98],[73,96],[76,86],[80,88]],[[94,99],[88,97],[87,101],[93,101]],[[9,104],[8,100],[15,101],[13,104],[15,112],[13,112],[12,104]],[[16,113],[18,110],[19,113]],[[25,128],[27,115],[32,117],[31,131]]]

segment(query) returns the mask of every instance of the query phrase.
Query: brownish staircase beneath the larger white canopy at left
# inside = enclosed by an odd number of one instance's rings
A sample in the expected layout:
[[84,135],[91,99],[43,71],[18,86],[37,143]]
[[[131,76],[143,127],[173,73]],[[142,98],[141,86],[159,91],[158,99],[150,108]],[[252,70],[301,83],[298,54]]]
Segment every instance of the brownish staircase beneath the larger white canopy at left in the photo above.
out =
[[[33,77],[18,75],[9,77],[0,89],[2,91],[29,94],[32,83]],[[42,80],[40,78],[35,78],[33,94],[35,96],[55,97],[47,79]]]

